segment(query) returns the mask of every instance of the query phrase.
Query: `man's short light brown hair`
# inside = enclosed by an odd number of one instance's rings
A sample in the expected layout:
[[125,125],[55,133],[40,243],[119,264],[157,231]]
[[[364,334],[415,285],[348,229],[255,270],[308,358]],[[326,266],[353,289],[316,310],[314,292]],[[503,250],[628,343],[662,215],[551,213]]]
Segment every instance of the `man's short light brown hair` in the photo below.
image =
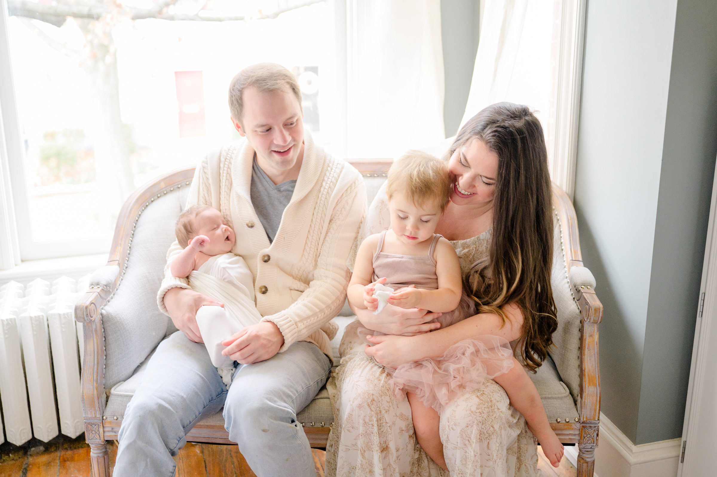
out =
[[229,85],[229,110],[232,111],[232,118],[239,123],[242,122],[244,112],[244,90],[250,86],[262,93],[267,91],[293,93],[301,106],[301,89],[296,77],[289,70],[276,63],[257,63],[238,72]]

